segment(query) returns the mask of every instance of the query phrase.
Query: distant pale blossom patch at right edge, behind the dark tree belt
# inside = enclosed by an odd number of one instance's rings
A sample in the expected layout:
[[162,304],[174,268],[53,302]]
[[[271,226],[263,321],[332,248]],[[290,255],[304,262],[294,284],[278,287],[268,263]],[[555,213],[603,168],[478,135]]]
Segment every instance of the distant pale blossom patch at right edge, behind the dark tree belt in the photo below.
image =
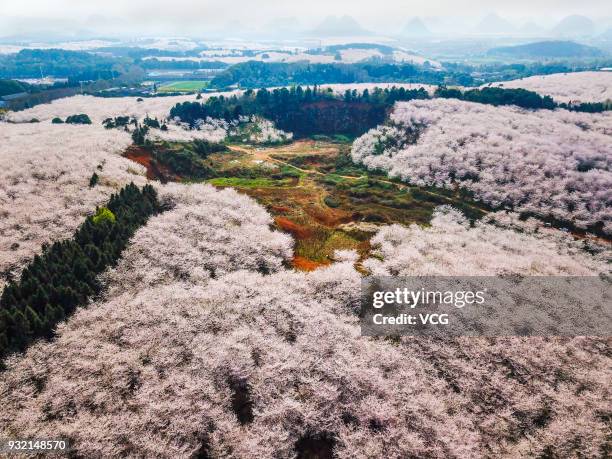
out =
[[573,72],[536,75],[493,83],[504,88],[523,88],[557,102],[606,102],[612,100],[612,72]]

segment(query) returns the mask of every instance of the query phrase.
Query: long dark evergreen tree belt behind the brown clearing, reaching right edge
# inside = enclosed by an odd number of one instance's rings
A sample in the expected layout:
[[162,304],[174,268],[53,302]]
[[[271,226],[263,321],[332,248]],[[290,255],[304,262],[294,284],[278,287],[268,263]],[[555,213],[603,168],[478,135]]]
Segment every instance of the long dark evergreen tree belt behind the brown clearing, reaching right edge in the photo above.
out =
[[[258,115],[273,121],[279,129],[296,137],[314,134],[359,136],[382,124],[395,102],[430,99],[424,89],[403,87],[374,88],[363,92],[346,90],[343,95],[318,86],[293,86],[280,89],[249,89],[242,95],[214,96],[204,102],[183,102],[170,110],[191,127],[206,118],[232,121],[243,115]],[[486,87],[461,90],[439,86],[433,97],[453,98],[487,105],[516,105],[527,109],[566,108],[597,112],[610,109],[609,104],[558,104],[550,96],[526,89]]]

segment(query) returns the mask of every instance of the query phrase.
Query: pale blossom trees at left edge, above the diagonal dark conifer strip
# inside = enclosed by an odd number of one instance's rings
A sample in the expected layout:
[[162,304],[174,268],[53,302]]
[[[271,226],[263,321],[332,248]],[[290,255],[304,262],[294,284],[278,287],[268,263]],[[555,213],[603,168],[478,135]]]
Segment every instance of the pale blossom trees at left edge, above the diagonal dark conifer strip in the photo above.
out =
[[18,272],[43,243],[72,237],[121,186],[143,184],[144,168],[120,156],[130,143],[101,125],[0,122],[0,273]]

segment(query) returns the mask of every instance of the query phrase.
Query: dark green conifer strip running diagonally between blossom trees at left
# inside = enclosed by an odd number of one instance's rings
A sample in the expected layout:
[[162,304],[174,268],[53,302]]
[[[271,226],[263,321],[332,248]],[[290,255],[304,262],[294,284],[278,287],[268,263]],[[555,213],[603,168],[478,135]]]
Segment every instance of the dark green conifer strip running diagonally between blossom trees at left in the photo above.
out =
[[0,358],[50,338],[60,321],[99,293],[97,275],[116,264],[136,230],[160,211],[152,186],[131,183],[87,217],[72,239],[43,246],[0,297]]

